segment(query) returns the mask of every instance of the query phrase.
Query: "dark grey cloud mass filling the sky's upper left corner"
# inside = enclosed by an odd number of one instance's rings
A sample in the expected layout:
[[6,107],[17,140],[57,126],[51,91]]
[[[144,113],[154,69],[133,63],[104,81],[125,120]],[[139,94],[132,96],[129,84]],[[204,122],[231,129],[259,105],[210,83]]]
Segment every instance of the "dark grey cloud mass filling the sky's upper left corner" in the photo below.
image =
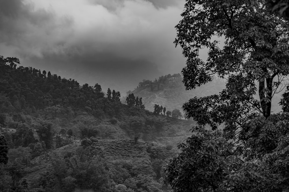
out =
[[24,2],[0,0],[0,50],[4,56],[42,56],[42,51],[59,47],[71,34],[70,17],[57,17],[53,10],[35,9],[34,3]]

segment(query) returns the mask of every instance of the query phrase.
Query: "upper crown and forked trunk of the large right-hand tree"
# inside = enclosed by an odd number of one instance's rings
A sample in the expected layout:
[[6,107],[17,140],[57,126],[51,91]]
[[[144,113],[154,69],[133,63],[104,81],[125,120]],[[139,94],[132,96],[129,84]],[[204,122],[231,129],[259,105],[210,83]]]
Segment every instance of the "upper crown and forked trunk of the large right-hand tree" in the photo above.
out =
[[[176,26],[175,40],[187,58],[182,71],[186,89],[196,88],[218,75],[227,79],[229,100],[243,108],[254,106],[269,117],[272,96],[289,73],[289,56],[287,22],[266,12],[265,3],[187,1],[181,14],[183,19]],[[224,46],[211,41],[213,36],[225,37]],[[209,49],[207,62],[199,59],[202,47]],[[253,98],[256,91],[258,101]]]

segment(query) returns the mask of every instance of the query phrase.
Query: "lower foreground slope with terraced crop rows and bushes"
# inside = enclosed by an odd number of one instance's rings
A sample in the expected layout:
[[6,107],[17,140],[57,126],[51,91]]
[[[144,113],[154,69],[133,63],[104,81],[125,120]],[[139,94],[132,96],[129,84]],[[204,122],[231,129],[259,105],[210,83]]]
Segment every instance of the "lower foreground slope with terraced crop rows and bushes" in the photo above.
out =
[[[20,149],[18,149],[19,151]],[[27,150],[22,148],[21,150]],[[22,176],[32,191],[170,191],[162,183],[162,165],[175,155],[170,147],[135,140],[83,139],[40,155],[31,161],[25,156],[8,164],[8,172]],[[21,161],[22,160],[22,161]],[[14,160],[15,162],[15,160]],[[24,162],[24,163],[23,163]],[[12,166],[14,166],[12,168]],[[19,175],[15,175],[18,179]],[[19,188],[25,189],[25,185]],[[26,187],[27,189],[28,187]]]

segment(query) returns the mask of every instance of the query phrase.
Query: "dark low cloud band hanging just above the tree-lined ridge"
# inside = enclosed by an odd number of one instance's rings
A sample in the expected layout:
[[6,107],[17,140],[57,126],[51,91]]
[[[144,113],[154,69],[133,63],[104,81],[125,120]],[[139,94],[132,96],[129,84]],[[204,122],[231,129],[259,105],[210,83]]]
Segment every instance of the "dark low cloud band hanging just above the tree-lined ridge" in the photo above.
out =
[[[134,60],[112,55],[111,53],[96,53],[86,55],[58,54],[45,55],[45,60],[39,57],[30,58],[36,68],[46,69],[50,66],[52,74],[76,79],[81,85],[99,83],[104,92],[108,88],[121,92],[133,90],[142,79],[154,79],[160,71],[157,66],[147,60]],[[63,63],[69,61],[69,65]]]

